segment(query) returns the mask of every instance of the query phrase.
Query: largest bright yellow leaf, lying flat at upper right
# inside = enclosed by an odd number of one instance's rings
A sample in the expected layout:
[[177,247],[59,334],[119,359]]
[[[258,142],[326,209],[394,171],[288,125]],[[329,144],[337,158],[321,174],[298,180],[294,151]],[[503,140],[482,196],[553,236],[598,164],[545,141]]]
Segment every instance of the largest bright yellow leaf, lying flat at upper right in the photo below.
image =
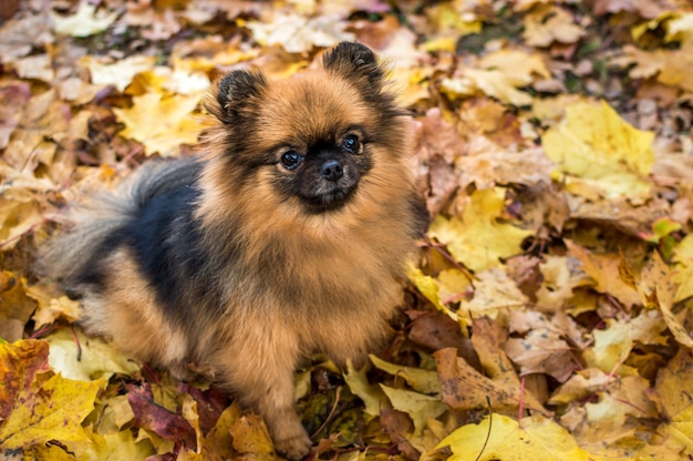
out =
[[560,172],[593,184],[610,198],[643,198],[650,191],[653,139],[654,133],[634,129],[602,101],[567,107],[565,121],[541,142]]

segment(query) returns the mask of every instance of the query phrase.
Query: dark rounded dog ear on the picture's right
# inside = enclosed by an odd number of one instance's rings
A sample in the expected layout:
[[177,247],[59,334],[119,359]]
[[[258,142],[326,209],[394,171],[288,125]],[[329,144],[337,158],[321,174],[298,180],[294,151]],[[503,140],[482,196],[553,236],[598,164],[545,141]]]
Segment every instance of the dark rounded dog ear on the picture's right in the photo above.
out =
[[385,72],[377,63],[375,53],[361,43],[339,43],[323,55],[322,66],[348,80],[364,81],[377,89],[385,81]]

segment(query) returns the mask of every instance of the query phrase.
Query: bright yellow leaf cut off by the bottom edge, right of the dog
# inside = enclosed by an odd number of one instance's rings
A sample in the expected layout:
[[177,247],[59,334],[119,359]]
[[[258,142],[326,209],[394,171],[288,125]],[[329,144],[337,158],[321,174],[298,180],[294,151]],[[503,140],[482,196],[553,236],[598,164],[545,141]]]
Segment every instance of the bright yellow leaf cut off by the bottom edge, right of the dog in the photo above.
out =
[[449,461],[590,460],[566,429],[539,416],[523,418],[518,423],[494,413],[493,420],[484,418],[478,424],[463,426],[438,443],[438,448],[447,445],[454,453]]

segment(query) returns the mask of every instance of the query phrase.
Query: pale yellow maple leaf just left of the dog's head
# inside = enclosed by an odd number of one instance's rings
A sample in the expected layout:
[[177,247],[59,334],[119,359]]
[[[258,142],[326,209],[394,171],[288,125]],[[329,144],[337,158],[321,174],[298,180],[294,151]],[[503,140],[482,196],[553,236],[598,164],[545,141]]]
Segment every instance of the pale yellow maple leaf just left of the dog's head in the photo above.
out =
[[197,142],[201,124],[192,114],[198,96],[145,93],[134,96],[133,102],[132,107],[113,112],[125,123],[121,135],[143,143],[147,155],[175,155],[180,144]]

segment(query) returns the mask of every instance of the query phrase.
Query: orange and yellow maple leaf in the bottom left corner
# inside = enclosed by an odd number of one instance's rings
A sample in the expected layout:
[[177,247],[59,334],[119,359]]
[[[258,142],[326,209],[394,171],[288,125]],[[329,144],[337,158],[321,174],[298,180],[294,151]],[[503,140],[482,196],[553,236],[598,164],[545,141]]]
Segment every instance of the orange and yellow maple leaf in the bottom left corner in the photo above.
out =
[[74,381],[48,367],[45,341],[0,344],[0,447],[30,452],[58,440],[69,451],[82,452],[90,438],[82,421],[94,409],[105,380]]

